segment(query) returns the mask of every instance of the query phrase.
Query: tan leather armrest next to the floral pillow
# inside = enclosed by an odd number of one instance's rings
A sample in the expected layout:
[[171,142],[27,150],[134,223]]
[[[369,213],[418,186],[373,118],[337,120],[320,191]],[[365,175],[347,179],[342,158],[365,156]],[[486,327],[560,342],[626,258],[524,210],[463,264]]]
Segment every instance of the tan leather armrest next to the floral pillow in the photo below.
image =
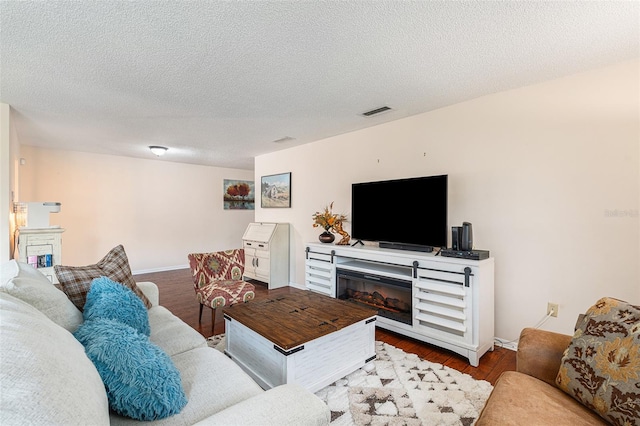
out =
[[572,336],[525,328],[520,333],[516,370],[556,386],[556,376]]

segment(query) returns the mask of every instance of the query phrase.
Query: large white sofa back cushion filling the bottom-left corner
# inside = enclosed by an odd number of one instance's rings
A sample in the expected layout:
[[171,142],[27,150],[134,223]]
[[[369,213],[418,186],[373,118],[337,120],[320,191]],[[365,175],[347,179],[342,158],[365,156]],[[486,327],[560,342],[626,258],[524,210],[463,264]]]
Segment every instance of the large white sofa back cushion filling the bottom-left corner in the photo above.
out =
[[80,342],[6,292],[0,311],[0,424],[109,424],[104,385]]

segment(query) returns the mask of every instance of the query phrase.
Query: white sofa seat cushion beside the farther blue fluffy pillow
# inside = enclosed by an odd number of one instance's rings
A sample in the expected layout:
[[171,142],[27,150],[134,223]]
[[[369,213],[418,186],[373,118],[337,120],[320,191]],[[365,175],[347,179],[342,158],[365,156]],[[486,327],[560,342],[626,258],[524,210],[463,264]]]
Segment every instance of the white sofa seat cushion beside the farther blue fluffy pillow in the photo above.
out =
[[207,346],[202,334],[189,327],[164,306],[154,306],[147,312],[151,326],[149,339],[169,356]]

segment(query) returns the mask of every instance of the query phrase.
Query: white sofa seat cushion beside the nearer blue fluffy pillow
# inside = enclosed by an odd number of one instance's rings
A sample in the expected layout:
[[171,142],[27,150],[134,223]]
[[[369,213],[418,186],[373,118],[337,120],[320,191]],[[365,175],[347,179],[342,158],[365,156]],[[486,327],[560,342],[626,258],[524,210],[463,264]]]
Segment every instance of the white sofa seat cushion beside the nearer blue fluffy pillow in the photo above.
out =
[[[190,425],[264,391],[231,359],[209,347],[172,357],[180,371],[189,401],[179,415],[152,425]],[[132,425],[135,420],[112,414],[112,425]],[[224,424],[224,421],[221,423]]]

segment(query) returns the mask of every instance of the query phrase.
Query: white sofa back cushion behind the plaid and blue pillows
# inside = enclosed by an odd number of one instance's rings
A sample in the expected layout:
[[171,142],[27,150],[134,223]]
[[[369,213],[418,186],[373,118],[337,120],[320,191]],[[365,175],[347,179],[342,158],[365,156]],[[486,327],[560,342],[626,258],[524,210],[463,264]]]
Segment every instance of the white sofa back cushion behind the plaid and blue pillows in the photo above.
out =
[[67,295],[31,265],[16,260],[4,263],[0,285],[0,290],[27,302],[72,333],[82,324],[82,313]]

